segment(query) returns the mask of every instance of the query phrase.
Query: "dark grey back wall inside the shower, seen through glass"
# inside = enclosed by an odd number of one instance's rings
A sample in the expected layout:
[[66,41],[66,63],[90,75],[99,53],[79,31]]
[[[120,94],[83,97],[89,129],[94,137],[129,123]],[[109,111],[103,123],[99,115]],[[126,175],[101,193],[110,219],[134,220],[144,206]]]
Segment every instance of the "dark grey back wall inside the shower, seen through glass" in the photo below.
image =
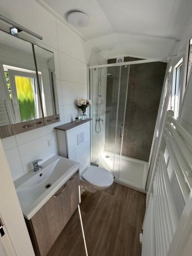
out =
[[[124,61],[132,60],[139,59],[124,57]],[[116,62],[116,59],[108,60],[108,63],[114,62]],[[122,66],[116,137],[117,154],[120,154],[121,147],[119,134],[124,115],[127,69],[128,67]],[[150,157],[165,70],[165,62],[142,63],[130,66],[122,144],[123,156],[144,161],[148,161]],[[109,76],[107,81],[106,110],[111,110],[111,113],[110,115],[106,114],[105,151],[114,152],[119,67],[109,67],[108,73],[111,73],[112,77]],[[116,96],[114,97],[113,95]]]

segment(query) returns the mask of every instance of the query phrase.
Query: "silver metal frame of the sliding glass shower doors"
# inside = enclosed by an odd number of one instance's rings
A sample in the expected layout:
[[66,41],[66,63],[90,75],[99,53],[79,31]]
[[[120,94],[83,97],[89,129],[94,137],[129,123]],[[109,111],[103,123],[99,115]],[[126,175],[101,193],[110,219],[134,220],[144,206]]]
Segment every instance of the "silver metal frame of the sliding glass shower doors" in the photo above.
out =
[[[128,72],[128,77],[127,77],[127,90],[128,90],[129,73],[130,73],[130,66],[131,65],[136,65],[136,64],[141,64],[141,63],[149,63],[149,62],[159,62],[159,61],[162,61],[162,62],[164,61],[164,62],[168,63],[170,60],[171,60],[170,57],[164,57],[164,58],[153,58],[153,59],[126,61],[126,62],[121,62],[121,63],[111,63],[111,64],[105,64],[105,65],[95,65],[95,66],[90,66],[89,67],[89,70],[90,70],[90,69],[97,69],[97,68],[108,68],[108,67],[119,67],[120,66],[120,70],[119,70],[119,74],[120,74],[119,75],[119,85],[118,85],[118,102],[117,102],[117,114],[116,114],[116,127],[115,127],[115,144],[114,144],[114,152],[113,152],[113,154],[114,154],[113,174],[114,174],[115,155],[116,155],[116,139],[117,139],[117,124],[118,124],[118,111],[119,111],[119,95],[120,95],[120,86],[121,86],[121,66],[129,66],[129,72]],[[89,74],[90,74],[90,72],[89,72]],[[165,75],[166,75],[166,73],[165,73]],[[90,78],[90,76],[89,76],[89,78]],[[91,86],[91,81],[90,81],[90,86]],[[163,89],[164,88],[162,88],[161,97],[162,97],[162,94],[164,93]],[[122,156],[122,143],[123,143],[123,133],[124,133],[126,101],[127,101],[127,92],[126,92],[126,97],[125,97],[125,108],[124,108],[124,116],[123,116],[123,129],[122,129],[122,138],[121,138],[121,150],[120,150],[120,156],[119,156],[120,157],[120,159],[119,159],[119,167],[120,167],[120,160],[121,160],[121,156]],[[159,109],[160,108],[161,108],[161,101],[160,101],[160,104],[159,104]],[[157,118],[158,118],[158,116],[157,116]],[[157,119],[156,119],[156,122],[157,122]],[[148,176],[148,171],[149,171],[149,168],[147,170],[147,176]],[[120,172],[120,168],[119,168],[119,172]],[[117,177],[114,177],[114,178],[116,178],[115,179],[116,183],[125,185],[127,187],[131,187],[131,188],[137,189],[137,190],[139,190],[139,191],[141,191],[143,193],[146,193],[146,183],[147,183],[147,180],[145,182],[145,189],[143,189],[143,188],[140,188],[140,187],[135,187],[135,186],[130,185],[129,181],[123,182],[123,181],[121,181]]]

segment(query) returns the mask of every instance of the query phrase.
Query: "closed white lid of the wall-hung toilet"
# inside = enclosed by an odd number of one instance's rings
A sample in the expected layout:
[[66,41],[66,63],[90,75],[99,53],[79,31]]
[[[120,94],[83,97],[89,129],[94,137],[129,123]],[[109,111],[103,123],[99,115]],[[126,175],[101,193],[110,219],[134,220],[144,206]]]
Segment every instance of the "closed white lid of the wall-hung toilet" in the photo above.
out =
[[113,175],[108,170],[92,165],[82,174],[82,178],[99,187],[110,186],[113,183]]

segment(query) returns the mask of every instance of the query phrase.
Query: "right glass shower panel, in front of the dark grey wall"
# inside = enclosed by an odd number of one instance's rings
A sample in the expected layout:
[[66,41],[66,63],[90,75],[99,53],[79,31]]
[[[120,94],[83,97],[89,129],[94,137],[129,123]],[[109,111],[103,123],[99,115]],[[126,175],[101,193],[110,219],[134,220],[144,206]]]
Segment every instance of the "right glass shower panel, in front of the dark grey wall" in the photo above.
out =
[[123,134],[118,138],[120,132],[117,132],[116,154],[120,154],[120,160],[115,158],[118,163],[116,177],[120,182],[141,190],[145,189],[146,184],[148,158],[165,68],[163,62],[130,65],[126,101],[123,92],[126,78],[123,77],[123,72],[121,74],[119,102],[122,101],[125,105],[123,118],[119,105],[118,129],[122,127]]

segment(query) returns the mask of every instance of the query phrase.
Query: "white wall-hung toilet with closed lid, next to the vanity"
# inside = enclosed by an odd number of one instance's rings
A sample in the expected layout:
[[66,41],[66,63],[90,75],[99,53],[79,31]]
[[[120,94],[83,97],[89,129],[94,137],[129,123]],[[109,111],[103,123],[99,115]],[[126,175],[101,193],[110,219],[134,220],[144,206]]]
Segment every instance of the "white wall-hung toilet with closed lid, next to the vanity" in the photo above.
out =
[[92,193],[110,187],[114,178],[109,170],[97,166],[89,166],[80,174],[80,186]]

